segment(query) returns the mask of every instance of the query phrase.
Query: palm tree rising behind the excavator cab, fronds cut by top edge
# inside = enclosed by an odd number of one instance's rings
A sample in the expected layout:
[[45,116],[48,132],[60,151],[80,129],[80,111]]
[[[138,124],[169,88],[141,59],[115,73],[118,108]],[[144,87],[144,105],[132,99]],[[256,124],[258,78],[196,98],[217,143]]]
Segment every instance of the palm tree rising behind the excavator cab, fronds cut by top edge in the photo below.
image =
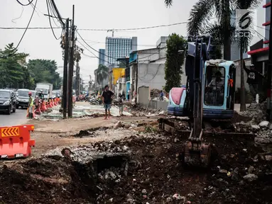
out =
[[[232,2],[231,5],[230,2]],[[189,35],[200,35],[207,33],[211,28],[216,29],[220,36],[217,43],[224,45],[224,60],[230,60],[232,36],[234,34],[234,27],[230,21],[232,11],[241,8],[239,5],[248,5],[244,8],[256,8],[260,3],[261,0],[200,0],[190,11],[187,32]],[[173,0],[165,0],[165,4],[172,6]],[[211,24],[210,19],[213,16],[217,18],[217,21]]]

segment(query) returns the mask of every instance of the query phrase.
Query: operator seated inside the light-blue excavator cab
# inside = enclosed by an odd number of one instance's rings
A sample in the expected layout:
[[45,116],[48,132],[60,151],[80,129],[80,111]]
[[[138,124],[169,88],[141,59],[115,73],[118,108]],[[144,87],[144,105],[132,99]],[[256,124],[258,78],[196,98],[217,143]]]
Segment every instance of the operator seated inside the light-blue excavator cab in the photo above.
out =
[[212,79],[207,90],[207,98],[209,98],[207,102],[210,105],[222,106],[224,101],[224,80],[222,79],[221,72],[217,71],[215,73],[215,79]]

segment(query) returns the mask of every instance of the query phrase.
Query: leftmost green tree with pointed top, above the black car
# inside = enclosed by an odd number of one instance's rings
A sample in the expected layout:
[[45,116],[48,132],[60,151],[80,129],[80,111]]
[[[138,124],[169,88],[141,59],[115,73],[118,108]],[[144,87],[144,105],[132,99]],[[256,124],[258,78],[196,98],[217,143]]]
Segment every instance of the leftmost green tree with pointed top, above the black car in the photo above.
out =
[[23,81],[24,77],[26,77],[24,74],[27,74],[23,70],[27,56],[26,53],[18,52],[13,47],[13,43],[6,45],[4,51],[0,51],[0,86],[2,88],[17,88],[18,83]]

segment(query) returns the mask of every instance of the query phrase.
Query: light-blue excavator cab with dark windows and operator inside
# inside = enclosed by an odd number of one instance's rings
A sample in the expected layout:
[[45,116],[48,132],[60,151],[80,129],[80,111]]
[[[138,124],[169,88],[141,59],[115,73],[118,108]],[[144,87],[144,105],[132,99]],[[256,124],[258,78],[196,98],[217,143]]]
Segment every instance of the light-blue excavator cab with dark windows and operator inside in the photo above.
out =
[[205,62],[204,69],[203,118],[233,118],[236,77],[234,62],[209,60]]

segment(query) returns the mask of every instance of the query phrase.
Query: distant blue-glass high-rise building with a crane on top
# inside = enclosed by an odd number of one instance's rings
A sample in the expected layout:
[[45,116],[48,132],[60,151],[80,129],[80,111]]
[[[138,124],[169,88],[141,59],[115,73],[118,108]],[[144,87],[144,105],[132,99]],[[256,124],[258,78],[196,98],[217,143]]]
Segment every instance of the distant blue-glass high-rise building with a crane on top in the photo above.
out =
[[128,57],[129,53],[137,50],[137,37],[132,38],[106,38],[105,61],[106,64],[118,64],[119,58]]

